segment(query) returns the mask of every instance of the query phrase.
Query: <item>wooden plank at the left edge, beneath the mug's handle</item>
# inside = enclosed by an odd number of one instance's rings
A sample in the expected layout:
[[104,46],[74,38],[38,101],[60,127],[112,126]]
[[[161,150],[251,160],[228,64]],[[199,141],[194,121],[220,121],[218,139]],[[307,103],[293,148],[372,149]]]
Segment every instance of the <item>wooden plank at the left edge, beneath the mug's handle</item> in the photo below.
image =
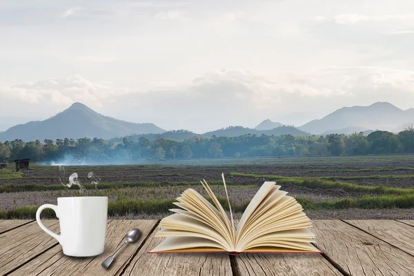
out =
[[[43,220],[43,224],[59,233],[57,220]],[[4,275],[58,242],[33,222],[1,234],[0,244],[0,275]]]

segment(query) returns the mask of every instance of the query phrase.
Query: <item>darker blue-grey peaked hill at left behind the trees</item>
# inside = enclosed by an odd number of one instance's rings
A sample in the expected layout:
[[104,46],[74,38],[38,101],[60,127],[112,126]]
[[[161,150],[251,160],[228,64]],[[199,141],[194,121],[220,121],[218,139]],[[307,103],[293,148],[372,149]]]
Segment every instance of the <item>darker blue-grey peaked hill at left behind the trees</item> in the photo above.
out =
[[30,121],[0,132],[0,141],[23,139],[34,141],[39,139],[126,136],[141,133],[161,133],[162,128],[155,124],[135,124],[106,117],[82,103],[73,103],[70,108],[63,110],[45,121]]

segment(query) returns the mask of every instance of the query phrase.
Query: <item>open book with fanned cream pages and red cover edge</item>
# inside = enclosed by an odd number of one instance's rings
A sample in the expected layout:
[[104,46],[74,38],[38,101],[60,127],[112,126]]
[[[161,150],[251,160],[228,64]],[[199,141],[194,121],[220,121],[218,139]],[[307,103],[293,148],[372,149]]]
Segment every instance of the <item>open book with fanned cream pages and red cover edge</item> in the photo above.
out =
[[166,239],[149,253],[322,253],[311,244],[315,235],[302,206],[279,190],[276,182],[264,182],[237,228],[231,206],[229,219],[207,182],[201,184],[214,206],[195,190],[185,190],[175,203],[181,209],[171,209],[175,214],[160,222],[155,236]]

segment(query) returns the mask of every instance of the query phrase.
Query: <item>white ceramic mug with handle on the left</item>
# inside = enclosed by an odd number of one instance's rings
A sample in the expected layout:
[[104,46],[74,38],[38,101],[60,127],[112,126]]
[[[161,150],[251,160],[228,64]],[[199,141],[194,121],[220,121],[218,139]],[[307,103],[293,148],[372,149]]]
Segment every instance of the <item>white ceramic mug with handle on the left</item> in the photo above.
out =
[[[41,223],[40,213],[46,208],[55,210],[61,235]],[[36,220],[40,228],[61,244],[63,254],[90,257],[103,253],[107,215],[108,197],[58,197],[57,206],[44,204],[37,209]]]

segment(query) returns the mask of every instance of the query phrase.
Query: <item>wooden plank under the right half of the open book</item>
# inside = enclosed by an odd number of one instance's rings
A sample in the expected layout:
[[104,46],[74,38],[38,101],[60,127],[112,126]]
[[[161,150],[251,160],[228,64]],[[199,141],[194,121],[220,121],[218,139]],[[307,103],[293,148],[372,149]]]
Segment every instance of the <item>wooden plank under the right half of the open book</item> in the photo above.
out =
[[242,254],[235,275],[342,275],[320,254]]

